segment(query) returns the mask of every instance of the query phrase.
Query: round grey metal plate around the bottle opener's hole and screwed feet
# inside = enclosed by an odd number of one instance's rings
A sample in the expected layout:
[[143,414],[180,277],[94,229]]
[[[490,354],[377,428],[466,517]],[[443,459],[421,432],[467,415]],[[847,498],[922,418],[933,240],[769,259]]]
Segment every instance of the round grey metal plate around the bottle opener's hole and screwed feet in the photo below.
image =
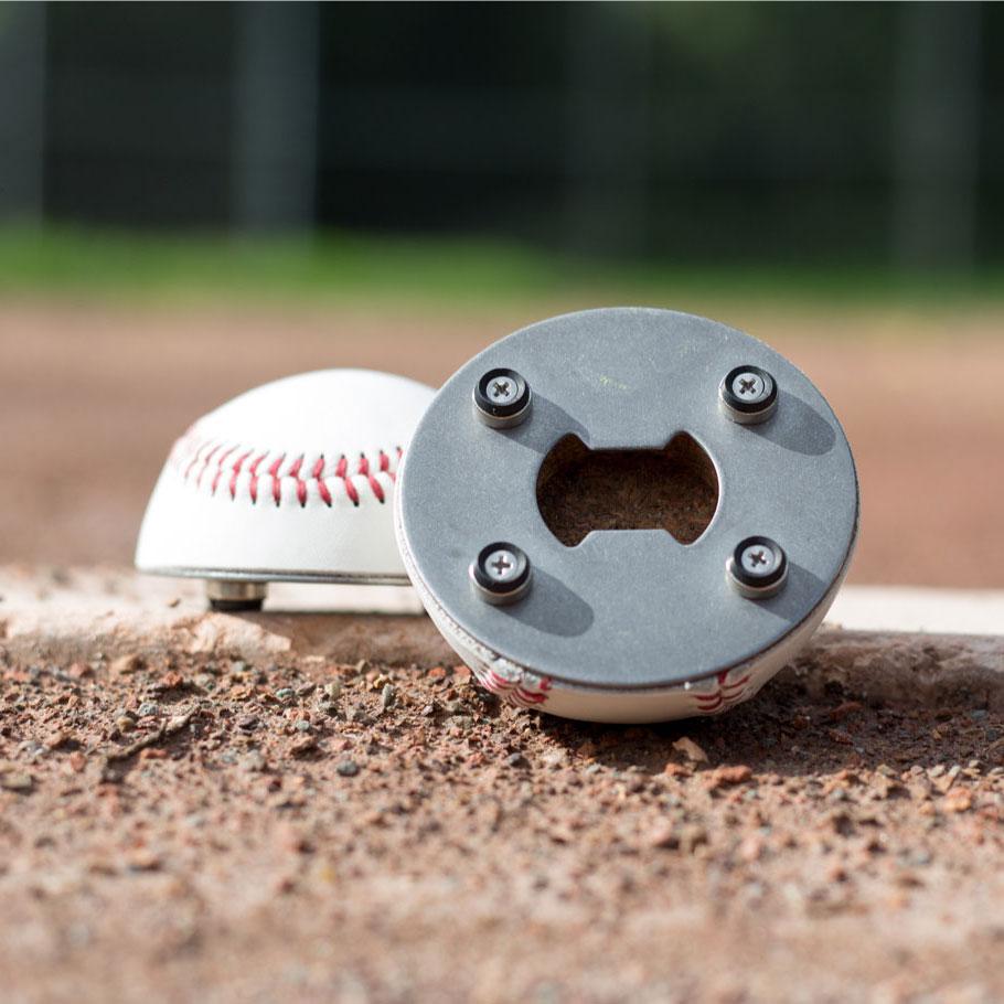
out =
[[[723,377],[760,366],[778,385],[761,425],[719,407]],[[515,428],[472,414],[488,370],[521,374],[533,412]],[[590,449],[661,449],[687,432],[711,457],[718,502],[704,533],[592,532],[562,544],[536,501],[537,474],[568,434]],[[420,420],[398,487],[398,537],[419,592],[492,653],[573,687],[644,690],[699,681],[776,649],[821,617],[858,521],[854,461],[830,406],[783,356],[724,324],[618,308],[533,324],[471,360]],[[766,536],[788,556],[784,588],[750,599],[729,585],[737,542]],[[492,541],[521,547],[526,595],[484,602],[468,569]]]

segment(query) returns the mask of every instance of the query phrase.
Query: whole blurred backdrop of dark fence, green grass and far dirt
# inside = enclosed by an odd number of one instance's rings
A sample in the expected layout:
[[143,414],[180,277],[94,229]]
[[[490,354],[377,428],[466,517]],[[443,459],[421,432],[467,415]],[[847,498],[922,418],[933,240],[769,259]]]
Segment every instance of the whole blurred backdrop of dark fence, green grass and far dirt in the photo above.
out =
[[565,310],[789,355],[852,580],[1004,586],[1004,7],[0,8],[0,562],[126,563],[171,441]]

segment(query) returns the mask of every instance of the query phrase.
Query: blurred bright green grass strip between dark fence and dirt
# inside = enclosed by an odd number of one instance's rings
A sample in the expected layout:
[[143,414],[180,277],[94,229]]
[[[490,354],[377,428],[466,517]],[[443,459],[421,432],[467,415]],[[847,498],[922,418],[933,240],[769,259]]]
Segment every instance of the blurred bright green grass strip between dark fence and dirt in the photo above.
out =
[[1004,269],[907,274],[879,265],[683,266],[575,257],[467,238],[299,237],[0,228],[0,295],[420,302],[498,309],[527,301],[998,306]]

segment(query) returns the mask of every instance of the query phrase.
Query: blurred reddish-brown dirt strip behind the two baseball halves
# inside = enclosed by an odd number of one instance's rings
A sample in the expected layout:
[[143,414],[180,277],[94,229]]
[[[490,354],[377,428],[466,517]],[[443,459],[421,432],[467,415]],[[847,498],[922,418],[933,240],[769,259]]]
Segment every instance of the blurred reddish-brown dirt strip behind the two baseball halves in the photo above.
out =
[[[128,563],[173,439],[248,387],[346,365],[438,385],[515,328],[585,306],[0,302],[0,562]],[[1004,312],[683,306],[770,342],[830,398],[862,484],[851,581],[1004,586]]]

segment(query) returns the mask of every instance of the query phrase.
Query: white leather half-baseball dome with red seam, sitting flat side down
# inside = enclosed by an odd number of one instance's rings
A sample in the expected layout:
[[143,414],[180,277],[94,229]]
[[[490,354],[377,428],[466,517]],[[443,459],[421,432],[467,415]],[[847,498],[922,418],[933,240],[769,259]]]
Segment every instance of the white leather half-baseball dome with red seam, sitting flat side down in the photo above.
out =
[[234,580],[407,583],[395,478],[431,400],[424,384],[323,370],[255,387],[175,444],[136,566]]

